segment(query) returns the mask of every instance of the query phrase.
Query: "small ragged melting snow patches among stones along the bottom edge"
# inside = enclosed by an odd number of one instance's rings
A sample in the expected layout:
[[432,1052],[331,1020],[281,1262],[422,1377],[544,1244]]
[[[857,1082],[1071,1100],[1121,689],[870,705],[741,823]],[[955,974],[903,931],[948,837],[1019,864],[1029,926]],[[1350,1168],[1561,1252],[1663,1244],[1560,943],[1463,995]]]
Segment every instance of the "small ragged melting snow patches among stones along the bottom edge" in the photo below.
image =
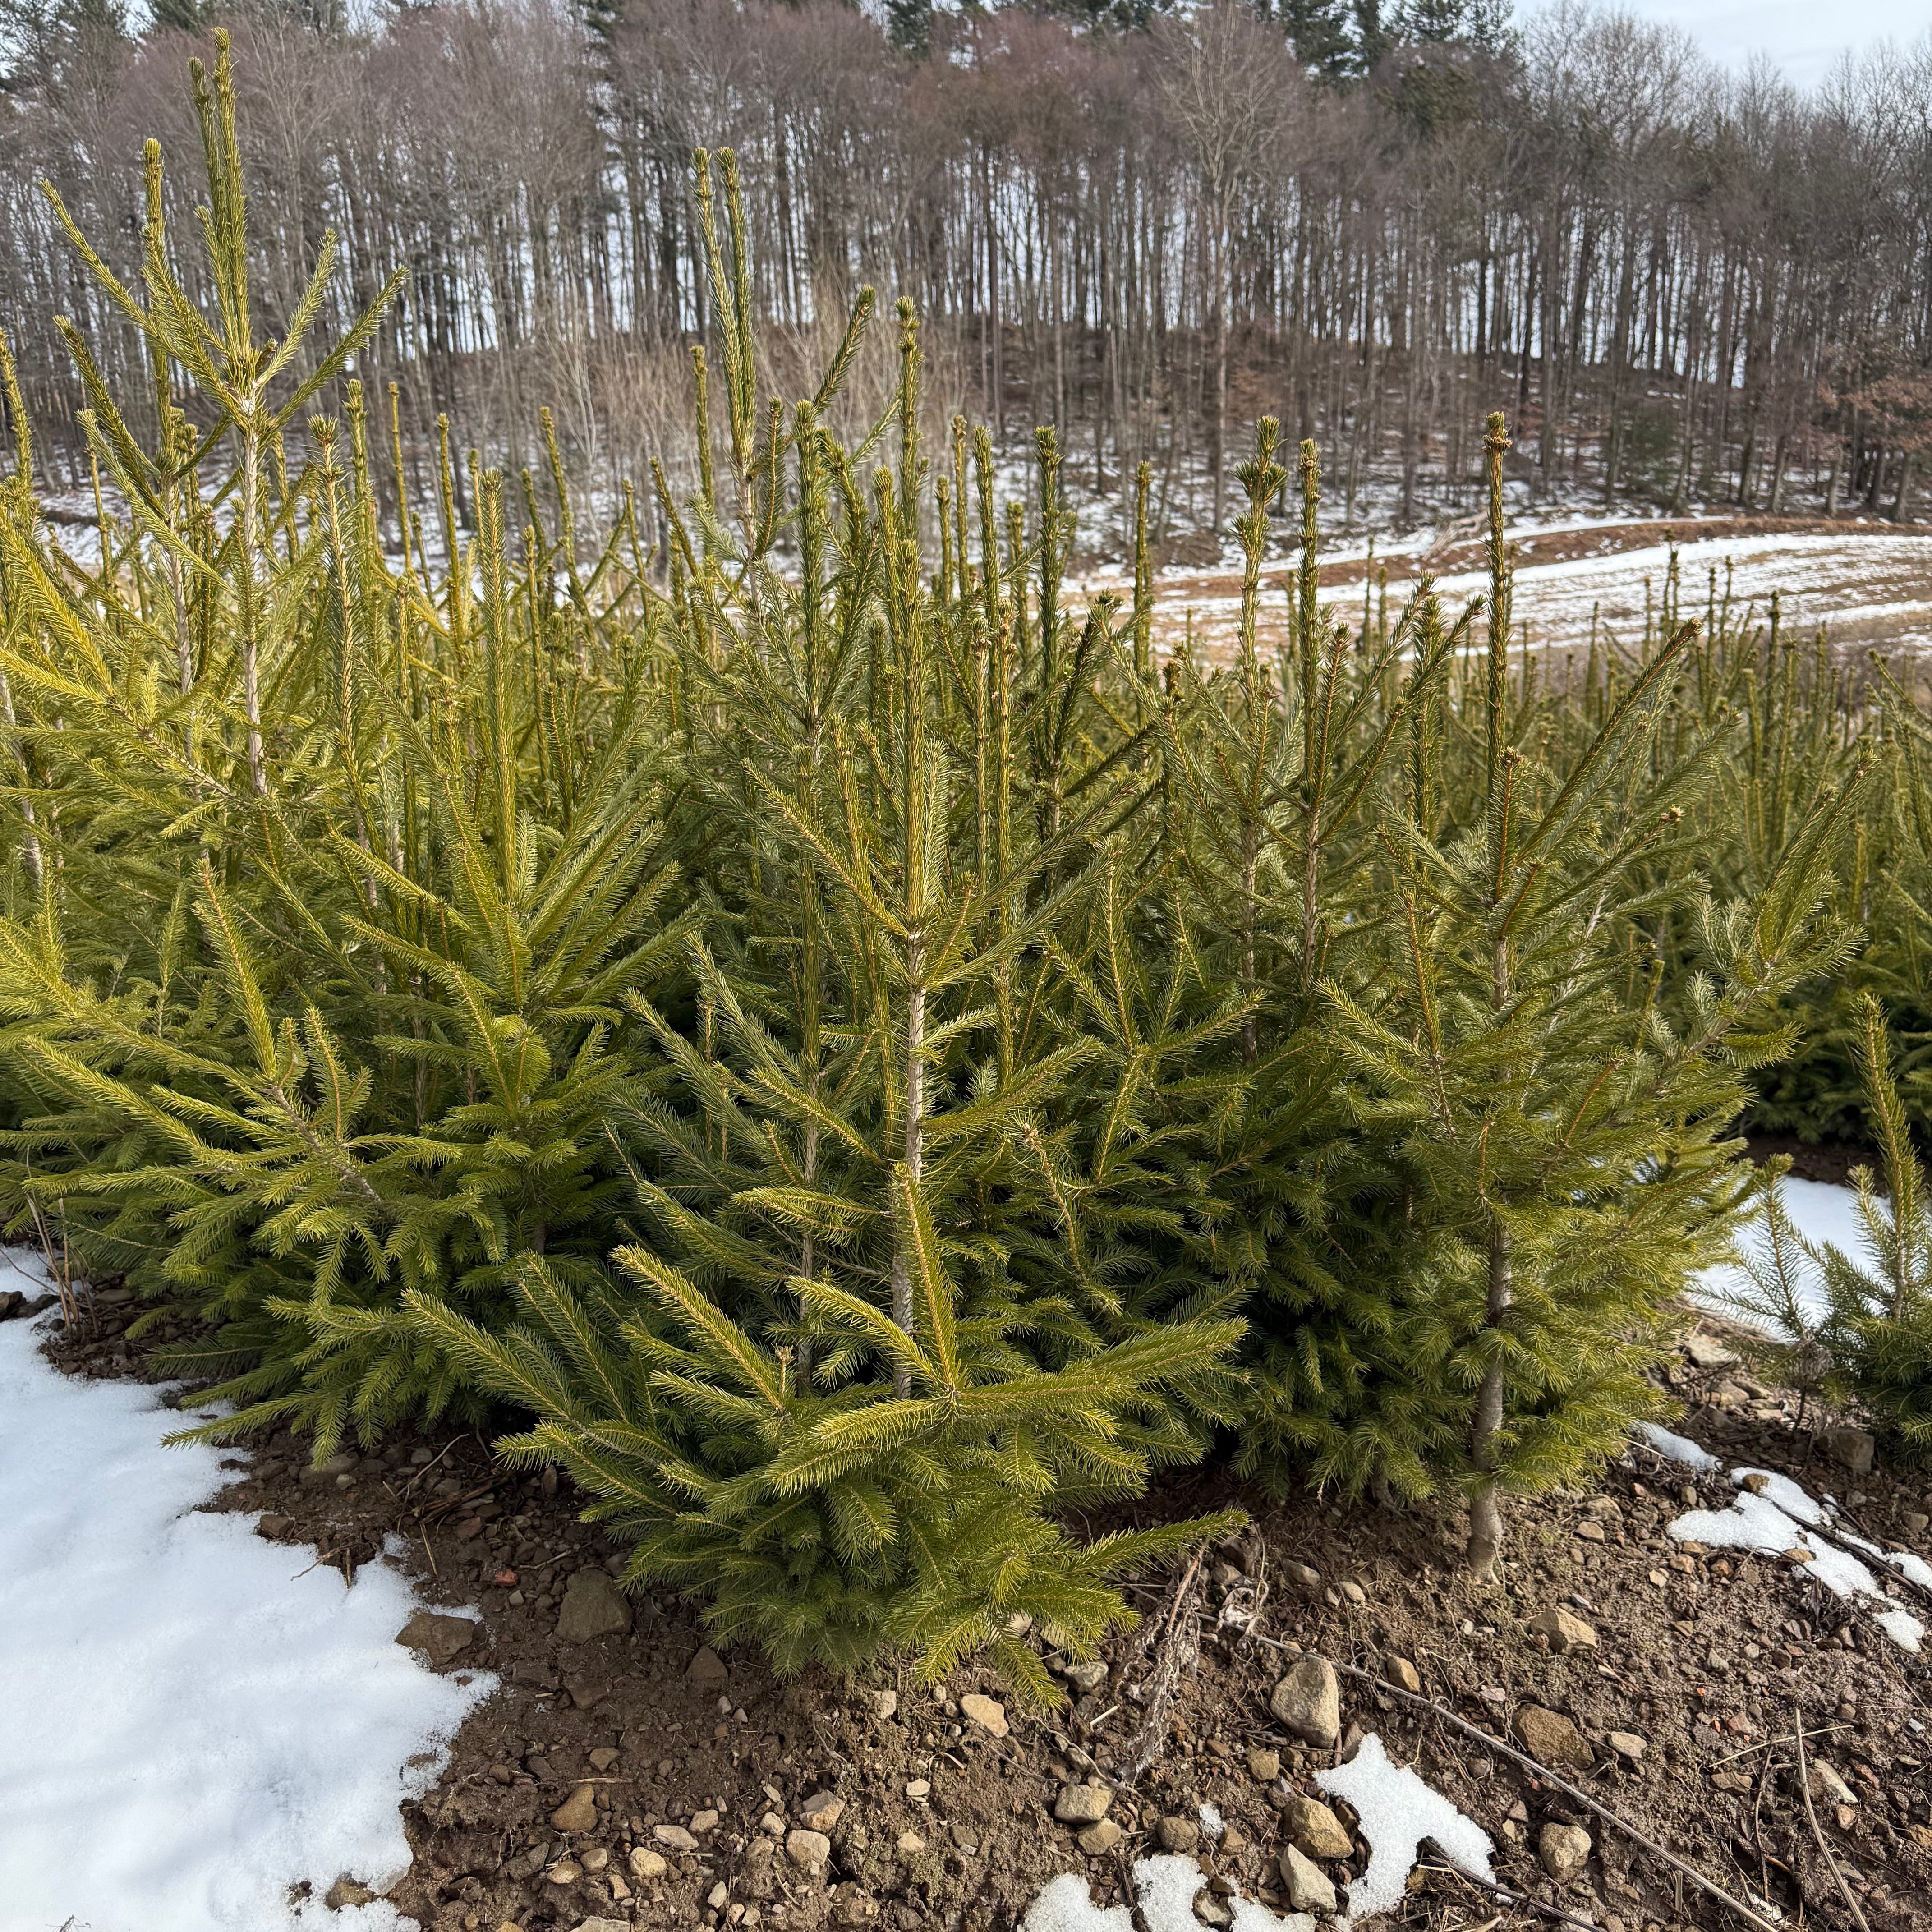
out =
[[[1368,1839],[1368,1870],[1349,1888],[1349,1909],[1333,1920],[1337,1928],[1403,1903],[1424,1839],[1472,1878],[1495,1880],[1490,1833],[1412,1770],[1391,1764],[1374,1733],[1362,1739],[1347,1764],[1318,1772],[1316,1783],[1354,1806]],[[1202,1826],[1209,1835],[1225,1830],[1213,1804],[1202,1806]],[[1136,1859],[1134,1907],[1148,1932],[1200,1932],[1194,1899],[1206,1884],[1200,1864],[1179,1853]],[[1275,1913],[1238,1891],[1223,1903],[1233,1913],[1233,1932],[1316,1932],[1310,1913]],[[1088,1882],[1063,1872],[1028,1907],[1020,1932],[1134,1932],[1134,1909],[1095,1905]]]

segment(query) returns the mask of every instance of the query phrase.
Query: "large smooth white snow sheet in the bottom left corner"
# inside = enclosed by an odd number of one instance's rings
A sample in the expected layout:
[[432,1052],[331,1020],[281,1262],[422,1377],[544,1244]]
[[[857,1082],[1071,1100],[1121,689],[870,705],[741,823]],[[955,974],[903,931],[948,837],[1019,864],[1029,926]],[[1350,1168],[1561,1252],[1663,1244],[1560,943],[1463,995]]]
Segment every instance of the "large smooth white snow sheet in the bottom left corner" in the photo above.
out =
[[[8,1252],[0,1287],[46,1279]],[[495,1679],[396,1644],[417,1605],[386,1563],[344,1586],[201,1511],[232,1451],[162,1447],[160,1391],[39,1341],[0,1325],[0,1932],[402,1924],[323,1893],[402,1876],[398,1804]]]

